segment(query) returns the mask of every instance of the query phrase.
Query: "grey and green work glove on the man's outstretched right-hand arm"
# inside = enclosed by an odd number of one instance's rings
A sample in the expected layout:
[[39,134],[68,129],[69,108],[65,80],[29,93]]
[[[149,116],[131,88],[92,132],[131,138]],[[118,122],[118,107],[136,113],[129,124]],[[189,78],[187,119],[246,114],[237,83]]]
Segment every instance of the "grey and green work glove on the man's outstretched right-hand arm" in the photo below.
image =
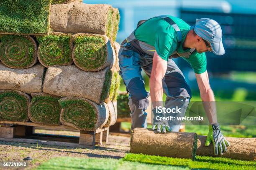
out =
[[220,125],[218,123],[209,125],[205,146],[209,146],[210,143],[213,144],[215,155],[223,155],[224,152],[228,151],[227,147],[230,146],[230,144],[220,132]]

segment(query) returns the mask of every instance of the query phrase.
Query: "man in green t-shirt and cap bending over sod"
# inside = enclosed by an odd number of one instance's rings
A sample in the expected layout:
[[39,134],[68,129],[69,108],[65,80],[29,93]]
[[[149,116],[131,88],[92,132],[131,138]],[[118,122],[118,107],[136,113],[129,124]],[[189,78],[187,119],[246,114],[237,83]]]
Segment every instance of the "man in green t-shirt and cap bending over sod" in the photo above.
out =
[[129,37],[121,44],[119,51],[120,75],[129,92],[134,128],[147,128],[145,112],[149,105],[149,93],[145,90],[141,68],[150,77],[150,94],[153,103],[153,130],[158,133],[179,131],[180,124],[159,120],[165,117],[156,108],[162,106],[163,91],[166,94],[166,108],[181,108],[175,116],[184,116],[191,98],[191,90],[184,75],[172,58],[182,57],[194,69],[201,99],[209,120],[209,133],[205,142],[212,142],[216,155],[223,154],[229,146],[220,132],[217,122],[215,98],[209,84],[205,52],[216,55],[225,53],[220,25],[209,18],[197,19],[190,27],[182,19],[162,15],[138,23]]

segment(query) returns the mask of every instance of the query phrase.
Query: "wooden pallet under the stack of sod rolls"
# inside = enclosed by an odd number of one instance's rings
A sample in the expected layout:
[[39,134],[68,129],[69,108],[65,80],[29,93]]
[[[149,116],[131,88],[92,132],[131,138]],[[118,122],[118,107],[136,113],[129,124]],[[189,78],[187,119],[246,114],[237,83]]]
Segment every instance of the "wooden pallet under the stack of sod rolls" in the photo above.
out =
[[[72,127],[39,125],[33,122],[10,122],[0,121],[5,127],[0,127],[0,140],[9,142],[37,143],[44,145],[59,145],[79,148],[95,148],[95,145],[102,145],[108,142],[109,127],[99,128],[95,131],[80,130],[80,136],[48,135],[36,134],[35,127],[47,128],[52,130],[75,130]],[[9,125],[13,125],[8,127]]]

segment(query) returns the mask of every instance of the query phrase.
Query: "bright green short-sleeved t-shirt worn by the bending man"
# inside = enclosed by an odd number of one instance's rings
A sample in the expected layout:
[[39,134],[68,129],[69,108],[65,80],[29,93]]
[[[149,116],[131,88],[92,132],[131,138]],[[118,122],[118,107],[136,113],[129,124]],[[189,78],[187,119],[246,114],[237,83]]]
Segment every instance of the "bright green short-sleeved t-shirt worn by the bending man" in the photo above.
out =
[[[182,19],[168,15],[176,23],[182,33],[182,42],[178,44],[178,35],[172,25],[162,18],[151,18],[139,26],[134,35],[136,39],[146,42],[156,48],[157,54],[164,60],[177,50],[177,52],[187,52],[190,48],[184,50],[182,44],[185,40],[190,26]],[[200,74],[206,71],[205,52],[199,54],[196,50],[188,58],[182,57],[194,69],[195,73]]]

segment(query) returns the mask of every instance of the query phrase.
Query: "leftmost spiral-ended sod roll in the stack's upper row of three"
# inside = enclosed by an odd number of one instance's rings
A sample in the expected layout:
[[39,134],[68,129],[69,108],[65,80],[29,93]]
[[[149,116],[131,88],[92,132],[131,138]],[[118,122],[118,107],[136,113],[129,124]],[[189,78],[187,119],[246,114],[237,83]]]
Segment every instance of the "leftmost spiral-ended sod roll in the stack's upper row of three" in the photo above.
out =
[[37,45],[29,35],[0,35],[0,60],[4,65],[23,69],[37,62]]

